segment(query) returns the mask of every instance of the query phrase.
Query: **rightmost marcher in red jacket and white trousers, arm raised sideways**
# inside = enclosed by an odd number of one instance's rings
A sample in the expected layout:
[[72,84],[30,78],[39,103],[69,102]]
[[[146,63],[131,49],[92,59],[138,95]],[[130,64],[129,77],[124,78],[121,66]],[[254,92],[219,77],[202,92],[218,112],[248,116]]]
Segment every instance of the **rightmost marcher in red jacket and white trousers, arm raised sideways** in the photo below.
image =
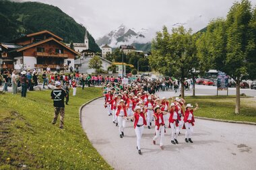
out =
[[193,112],[198,109],[198,104],[196,103],[195,105],[196,105],[196,108],[194,110],[192,110],[191,108],[193,108],[193,105],[191,105],[190,103],[187,104],[186,105],[185,116],[184,116],[184,126],[183,126],[183,128],[186,129],[185,141],[186,142],[191,142],[191,143],[193,143],[193,141],[191,140],[191,136],[193,134],[193,126],[194,126],[194,122],[195,122]]

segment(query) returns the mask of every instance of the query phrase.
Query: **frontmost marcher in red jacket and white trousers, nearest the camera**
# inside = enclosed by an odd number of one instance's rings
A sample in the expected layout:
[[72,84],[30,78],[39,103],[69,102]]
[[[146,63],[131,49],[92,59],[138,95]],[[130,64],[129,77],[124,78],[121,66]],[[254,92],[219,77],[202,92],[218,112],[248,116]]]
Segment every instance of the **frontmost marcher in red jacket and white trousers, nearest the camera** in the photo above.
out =
[[141,136],[143,134],[144,126],[147,125],[145,112],[146,108],[144,108],[143,112],[141,112],[141,108],[137,105],[134,109],[133,116],[129,117],[134,119],[134,129],[137,136],[137,150],[139,151],[139,155],[142,154],[140,146]]

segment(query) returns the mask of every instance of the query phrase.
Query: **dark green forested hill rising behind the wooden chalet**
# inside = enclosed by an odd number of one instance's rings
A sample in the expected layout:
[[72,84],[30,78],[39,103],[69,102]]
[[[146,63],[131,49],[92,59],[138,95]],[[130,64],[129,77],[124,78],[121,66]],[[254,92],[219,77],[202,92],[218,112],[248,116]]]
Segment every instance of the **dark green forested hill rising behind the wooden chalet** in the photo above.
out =
[[[84,42],[86,28],[58,7],[37,2],[17,3],[0,0],[0,42],[8,42],[22,34],[49,30],[64,42]],[[90,49],[100,48],[88,34]]]

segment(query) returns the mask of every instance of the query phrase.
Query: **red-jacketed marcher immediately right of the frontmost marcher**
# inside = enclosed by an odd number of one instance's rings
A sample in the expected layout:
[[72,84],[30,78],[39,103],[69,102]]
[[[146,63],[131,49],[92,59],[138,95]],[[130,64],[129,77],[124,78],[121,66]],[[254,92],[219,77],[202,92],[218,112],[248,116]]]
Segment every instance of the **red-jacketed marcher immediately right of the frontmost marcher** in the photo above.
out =
[[167,112],[162,112],[159,105],[156,105],[154,111],[156,136],[153,138],[153,144],[156,144],[156,140],[160,137],[160,148],[164,149],[164,115],[167,114]]

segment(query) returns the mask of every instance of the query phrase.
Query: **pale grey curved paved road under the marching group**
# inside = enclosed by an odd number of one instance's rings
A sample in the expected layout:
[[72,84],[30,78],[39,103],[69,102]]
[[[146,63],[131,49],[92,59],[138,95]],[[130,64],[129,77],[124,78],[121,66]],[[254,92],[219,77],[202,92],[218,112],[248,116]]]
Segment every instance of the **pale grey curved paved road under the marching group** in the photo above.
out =
[[93,146],[115,169],[255,169],[256,126],[195,120],[193,144],[186,143],[185,130],[179,144],[170,143],[166,130],[164,150],[152,144],[154,130],[144,128],[138,155],[133,122],[127,122],[124,138],[103,107],[100,98],[82,110],[82,127]]

